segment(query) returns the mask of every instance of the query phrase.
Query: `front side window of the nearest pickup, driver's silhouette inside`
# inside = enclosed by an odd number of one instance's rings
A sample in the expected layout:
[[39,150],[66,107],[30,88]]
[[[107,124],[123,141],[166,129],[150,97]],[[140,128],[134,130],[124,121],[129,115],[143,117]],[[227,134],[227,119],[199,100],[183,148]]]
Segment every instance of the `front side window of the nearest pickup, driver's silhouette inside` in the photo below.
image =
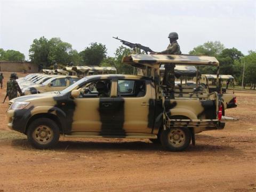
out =
[[100,79],[83,86],[79,98],[109,98],[110,92],[111,81]]

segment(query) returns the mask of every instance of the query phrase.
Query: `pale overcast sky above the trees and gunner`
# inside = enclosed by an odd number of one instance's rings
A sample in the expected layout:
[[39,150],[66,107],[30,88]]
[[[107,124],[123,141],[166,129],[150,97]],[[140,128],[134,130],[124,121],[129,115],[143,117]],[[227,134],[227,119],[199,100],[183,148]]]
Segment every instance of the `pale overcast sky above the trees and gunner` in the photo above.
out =
[[256,50],[256,1],[18,1],[0,0],[0,47],[28,60],[33,39],[60,37],[82,51],[113,36],[163,51],[176,31],[182,53],[207,41],[220,41],[247,54]]

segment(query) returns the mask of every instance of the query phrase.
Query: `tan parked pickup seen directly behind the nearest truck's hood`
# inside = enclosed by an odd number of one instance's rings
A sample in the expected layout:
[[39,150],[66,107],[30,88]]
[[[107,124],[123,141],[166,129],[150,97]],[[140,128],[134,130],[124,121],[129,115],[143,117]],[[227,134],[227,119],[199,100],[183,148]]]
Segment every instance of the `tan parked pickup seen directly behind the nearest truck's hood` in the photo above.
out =
[[61,91],[79,80],[76,76],[55,75],[42,84],[29,85],[22,88],[22,93],[37,94],[51,91]]

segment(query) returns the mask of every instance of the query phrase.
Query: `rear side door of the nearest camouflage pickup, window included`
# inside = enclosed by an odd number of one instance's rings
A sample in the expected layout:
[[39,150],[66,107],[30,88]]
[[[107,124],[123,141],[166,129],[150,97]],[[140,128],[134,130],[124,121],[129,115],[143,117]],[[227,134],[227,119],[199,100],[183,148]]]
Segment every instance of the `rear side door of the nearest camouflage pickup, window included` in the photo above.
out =
[[117,97],[114,98],[115,125],[124,133],[151,133],[154,110],[149,108],[152,99],[151,85],[145,79],[117,79]]

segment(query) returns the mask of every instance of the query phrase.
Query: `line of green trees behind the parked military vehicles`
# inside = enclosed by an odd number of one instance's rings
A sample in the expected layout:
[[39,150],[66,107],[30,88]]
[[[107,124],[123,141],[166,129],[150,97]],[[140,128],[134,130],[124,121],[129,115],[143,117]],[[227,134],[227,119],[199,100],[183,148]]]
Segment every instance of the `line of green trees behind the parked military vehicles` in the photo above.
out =
[[[181,47],[182,51],[182,47]],[[66,66],[73,62],[75,66],[113,66],[118,74],[132,74],[133,67],[122,65],[124,55],[131,54],[132,50],[119,46],[114,57],[107,56],[106,45],[101,43],[91,43],[81,52],[72,48],[72,45],[61,41],[60,38],[47,39],[40,37],[34,39],[29,49],[29,59],[37,63],[42,68],[51,68],[54,62],[58,65]],[[249,51],[248,55],[237,50],[235,47],[228,49],[219,42],[206,42],[203,45],[194,47],[189,52],[191,55],[208,55],[216,57],[220,62],[220,74],[233,75],[237,84],[242,84],[243,67],[244,85],[250,85],[255,89],[256,85],[256,52]],[[19,51],[0,49],[0,60],[24,61],[25,55]],[[215,74],[216,68],[201,67],[201,74]]]

